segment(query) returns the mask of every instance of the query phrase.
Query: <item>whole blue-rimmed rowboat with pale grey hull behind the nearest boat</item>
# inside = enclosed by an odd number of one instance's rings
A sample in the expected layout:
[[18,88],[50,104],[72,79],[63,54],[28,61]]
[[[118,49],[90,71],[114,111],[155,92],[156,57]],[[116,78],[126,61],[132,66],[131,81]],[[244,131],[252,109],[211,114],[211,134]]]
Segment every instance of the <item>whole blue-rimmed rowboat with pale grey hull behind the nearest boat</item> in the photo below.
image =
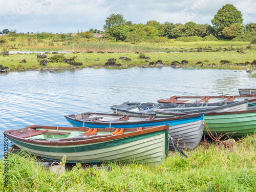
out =
[[[82,113],[66,115],[66,119],[75,127],[131,128],[152,127],[169,124],[169,135],[181,148],[195,148],[203,134],[204,114],[185,115],[181,117],[128,116],[106,113]],[[170,144],[170,148],[173,145]]]

